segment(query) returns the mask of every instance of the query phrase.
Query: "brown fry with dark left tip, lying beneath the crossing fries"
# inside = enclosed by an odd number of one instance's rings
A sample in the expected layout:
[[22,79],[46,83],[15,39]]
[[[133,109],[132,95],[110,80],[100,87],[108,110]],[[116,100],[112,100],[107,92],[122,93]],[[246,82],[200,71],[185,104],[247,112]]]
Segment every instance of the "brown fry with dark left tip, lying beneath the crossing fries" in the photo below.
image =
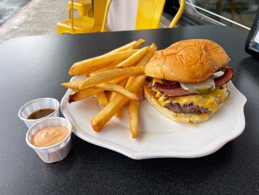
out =
[[[117,78],[117,79],[111,80],[109,82],[110,83],[119,83],[123,79],[124,78]],[[104,90],[103,89],[92,89],[92,88],[79,90],[78,92],[76,92],[72,95],[69,95],[69,103],[72,103],[74,101],[79,101],[84,98],[88,98],[88,97],[98,94],[102,91],[104,91]]]

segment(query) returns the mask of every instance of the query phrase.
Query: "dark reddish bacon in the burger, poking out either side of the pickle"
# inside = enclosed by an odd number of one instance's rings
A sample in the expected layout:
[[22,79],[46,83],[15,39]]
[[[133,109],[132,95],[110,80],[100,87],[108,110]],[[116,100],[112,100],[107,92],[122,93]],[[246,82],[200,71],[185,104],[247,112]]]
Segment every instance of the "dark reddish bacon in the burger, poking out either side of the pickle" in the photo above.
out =
[[[215,78],[215,86],[220,87],[227,83],[231,78],[233,78],[234,71],[231,68],[226,67],[225,72],[222,76]],[[166,98],[176,98],[181,96],[190,96],[192,93],[185,91],[181,88],[179,83],[175,83],[174,85],[166,85],[161,84],[159,82],[155,82],[153,87],[157,89],[160,93],[164,95]]]

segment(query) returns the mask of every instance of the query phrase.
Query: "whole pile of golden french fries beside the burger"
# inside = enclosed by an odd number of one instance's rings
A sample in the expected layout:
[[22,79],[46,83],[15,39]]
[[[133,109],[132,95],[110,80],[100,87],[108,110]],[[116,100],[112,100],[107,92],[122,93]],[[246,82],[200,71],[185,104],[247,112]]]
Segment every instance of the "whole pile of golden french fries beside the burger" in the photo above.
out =
[[155,55],[157,46],[139,47],[144,39],[134,40],[102,56],[76,62],[69,75],[86,74],[86,80],[61,83],[73,90],[69,103],[96,94],[104,109],[91,119],[94,131],[99,132],[114,115],[121,118],[121,108],[128,105],[129,127],[133,138],[138,131],[138,104],[143,100],[144,66]]

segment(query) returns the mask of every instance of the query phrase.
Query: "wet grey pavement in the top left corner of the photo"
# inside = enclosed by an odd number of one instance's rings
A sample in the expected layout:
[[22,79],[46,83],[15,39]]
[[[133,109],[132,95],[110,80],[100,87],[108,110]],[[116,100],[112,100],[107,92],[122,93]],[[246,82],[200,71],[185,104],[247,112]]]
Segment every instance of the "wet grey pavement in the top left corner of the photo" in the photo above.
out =
[[0,0],[0,26],[31,0]]

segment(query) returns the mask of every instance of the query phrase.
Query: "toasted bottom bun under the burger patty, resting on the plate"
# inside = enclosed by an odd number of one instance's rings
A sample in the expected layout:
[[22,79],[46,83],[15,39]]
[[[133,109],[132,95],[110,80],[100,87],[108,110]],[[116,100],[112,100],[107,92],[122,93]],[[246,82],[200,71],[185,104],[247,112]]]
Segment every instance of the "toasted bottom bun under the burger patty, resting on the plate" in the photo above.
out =
[[212,115],[219,110],[230,98],[229,96],[224,100],[223,103],[219,104],[219,107],[214,112],[208,112],[203,114],[194,114],[194,113],[176,113],[173,112],[170,108],[167,108],[165,106],[161,106],[159,102],[157,101],[157,98],[155,98],[155,93],[150,91],[148,86],[144,86],[144,92],[145,92],[145,98],[149,103],[151,103],[160,113],[165,115],[166,117],[170,117],[175,121],[179,122],[188,122],[188,123],[198,123],[198,122],[204,122],[208,120]]

